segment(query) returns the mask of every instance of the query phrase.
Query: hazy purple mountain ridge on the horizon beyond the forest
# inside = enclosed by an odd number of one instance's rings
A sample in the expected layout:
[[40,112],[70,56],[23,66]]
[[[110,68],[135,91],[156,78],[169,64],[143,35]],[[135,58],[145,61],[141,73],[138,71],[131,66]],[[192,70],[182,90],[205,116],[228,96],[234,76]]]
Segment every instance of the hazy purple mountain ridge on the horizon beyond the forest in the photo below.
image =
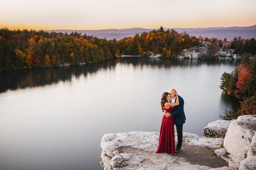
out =
[[[159,28],[158,28],[159,29]],[[165,28],[167,30],[168,28]],[[170,30],[172,28],[169,28]],[[206,27],[206,28],[173,28],[179,33],[187,32],[190,36],[203,36],[203,37],[215,37],[218,39],[224,39],[225,37],[227,40],[233,40],[234,37],[242,37],[245,39],[256,39],[256,25],[252,26],[232,26],[232,27]],[[86,35],[96,36],[98,38],[106,38],[106,39],[122,39],[125,37],[132,37],[136,34],[141,34],[143,32],[150,32],[156,29],[143,29],[139,27],[134,27],[131,29],[106,29],[106,30],[45,30],[46,32],[67,32],[70,34],[73,32],[79,32],[82,35],[86,33]]]

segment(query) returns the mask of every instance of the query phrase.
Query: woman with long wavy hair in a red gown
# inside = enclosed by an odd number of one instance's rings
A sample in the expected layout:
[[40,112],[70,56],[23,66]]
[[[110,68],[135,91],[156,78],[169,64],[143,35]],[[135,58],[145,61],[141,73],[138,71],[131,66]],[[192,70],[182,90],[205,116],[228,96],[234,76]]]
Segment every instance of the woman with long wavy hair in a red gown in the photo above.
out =
[[[178,94],[177,94],[178,95]],[[169,103],[171,99],[170,94],[164,92],[161,98],[161,109],[167,113],[172,112],[172,107],[179,105],[179,97],[175,103]],[[173,117],[170,115],[164,115],[161,123],[161,129],[159,134],[159,144],[156,153],[171,153],[174,154],[175,150],[175,137],[174,137],[174,123]]]

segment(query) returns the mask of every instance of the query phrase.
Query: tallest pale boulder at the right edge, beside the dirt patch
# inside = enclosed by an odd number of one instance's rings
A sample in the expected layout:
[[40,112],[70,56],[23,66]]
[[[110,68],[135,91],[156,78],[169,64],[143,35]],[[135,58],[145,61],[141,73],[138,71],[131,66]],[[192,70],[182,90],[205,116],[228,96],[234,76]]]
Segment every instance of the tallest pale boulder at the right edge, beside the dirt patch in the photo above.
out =
[[239,116],[230,123],[224,139],[224,147],[231,158],[228,166],[239,167],[247,157],[247,151],[256,131],[255,122],[255,115],[247,115]]

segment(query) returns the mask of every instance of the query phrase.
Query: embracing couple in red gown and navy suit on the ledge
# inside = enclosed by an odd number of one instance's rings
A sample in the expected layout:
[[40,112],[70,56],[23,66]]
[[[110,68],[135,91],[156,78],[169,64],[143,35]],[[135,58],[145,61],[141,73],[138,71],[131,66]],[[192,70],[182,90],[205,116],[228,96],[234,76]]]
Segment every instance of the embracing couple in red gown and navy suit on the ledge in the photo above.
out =
[[[184,100],[175,89],[169,93],[164,92],[161,98],[161,109],[164,116],[161,122],[159,144],[157,153],[179,153],[183,140],[183,124],[186,117],[184,112]],[[176,125],[178,142],[175,150],[174,124]]]

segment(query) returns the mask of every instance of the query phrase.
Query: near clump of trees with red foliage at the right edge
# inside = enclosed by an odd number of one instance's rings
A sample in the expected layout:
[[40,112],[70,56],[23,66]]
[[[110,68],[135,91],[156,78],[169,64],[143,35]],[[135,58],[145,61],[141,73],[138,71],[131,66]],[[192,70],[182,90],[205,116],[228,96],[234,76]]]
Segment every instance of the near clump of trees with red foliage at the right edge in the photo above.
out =
[[256,58],[244,56],[232,73],[224,72],[221,87],[228,95],[240,100],[238,112],[226,111],[224,118],[232,119],[240,115],[256,115]]

